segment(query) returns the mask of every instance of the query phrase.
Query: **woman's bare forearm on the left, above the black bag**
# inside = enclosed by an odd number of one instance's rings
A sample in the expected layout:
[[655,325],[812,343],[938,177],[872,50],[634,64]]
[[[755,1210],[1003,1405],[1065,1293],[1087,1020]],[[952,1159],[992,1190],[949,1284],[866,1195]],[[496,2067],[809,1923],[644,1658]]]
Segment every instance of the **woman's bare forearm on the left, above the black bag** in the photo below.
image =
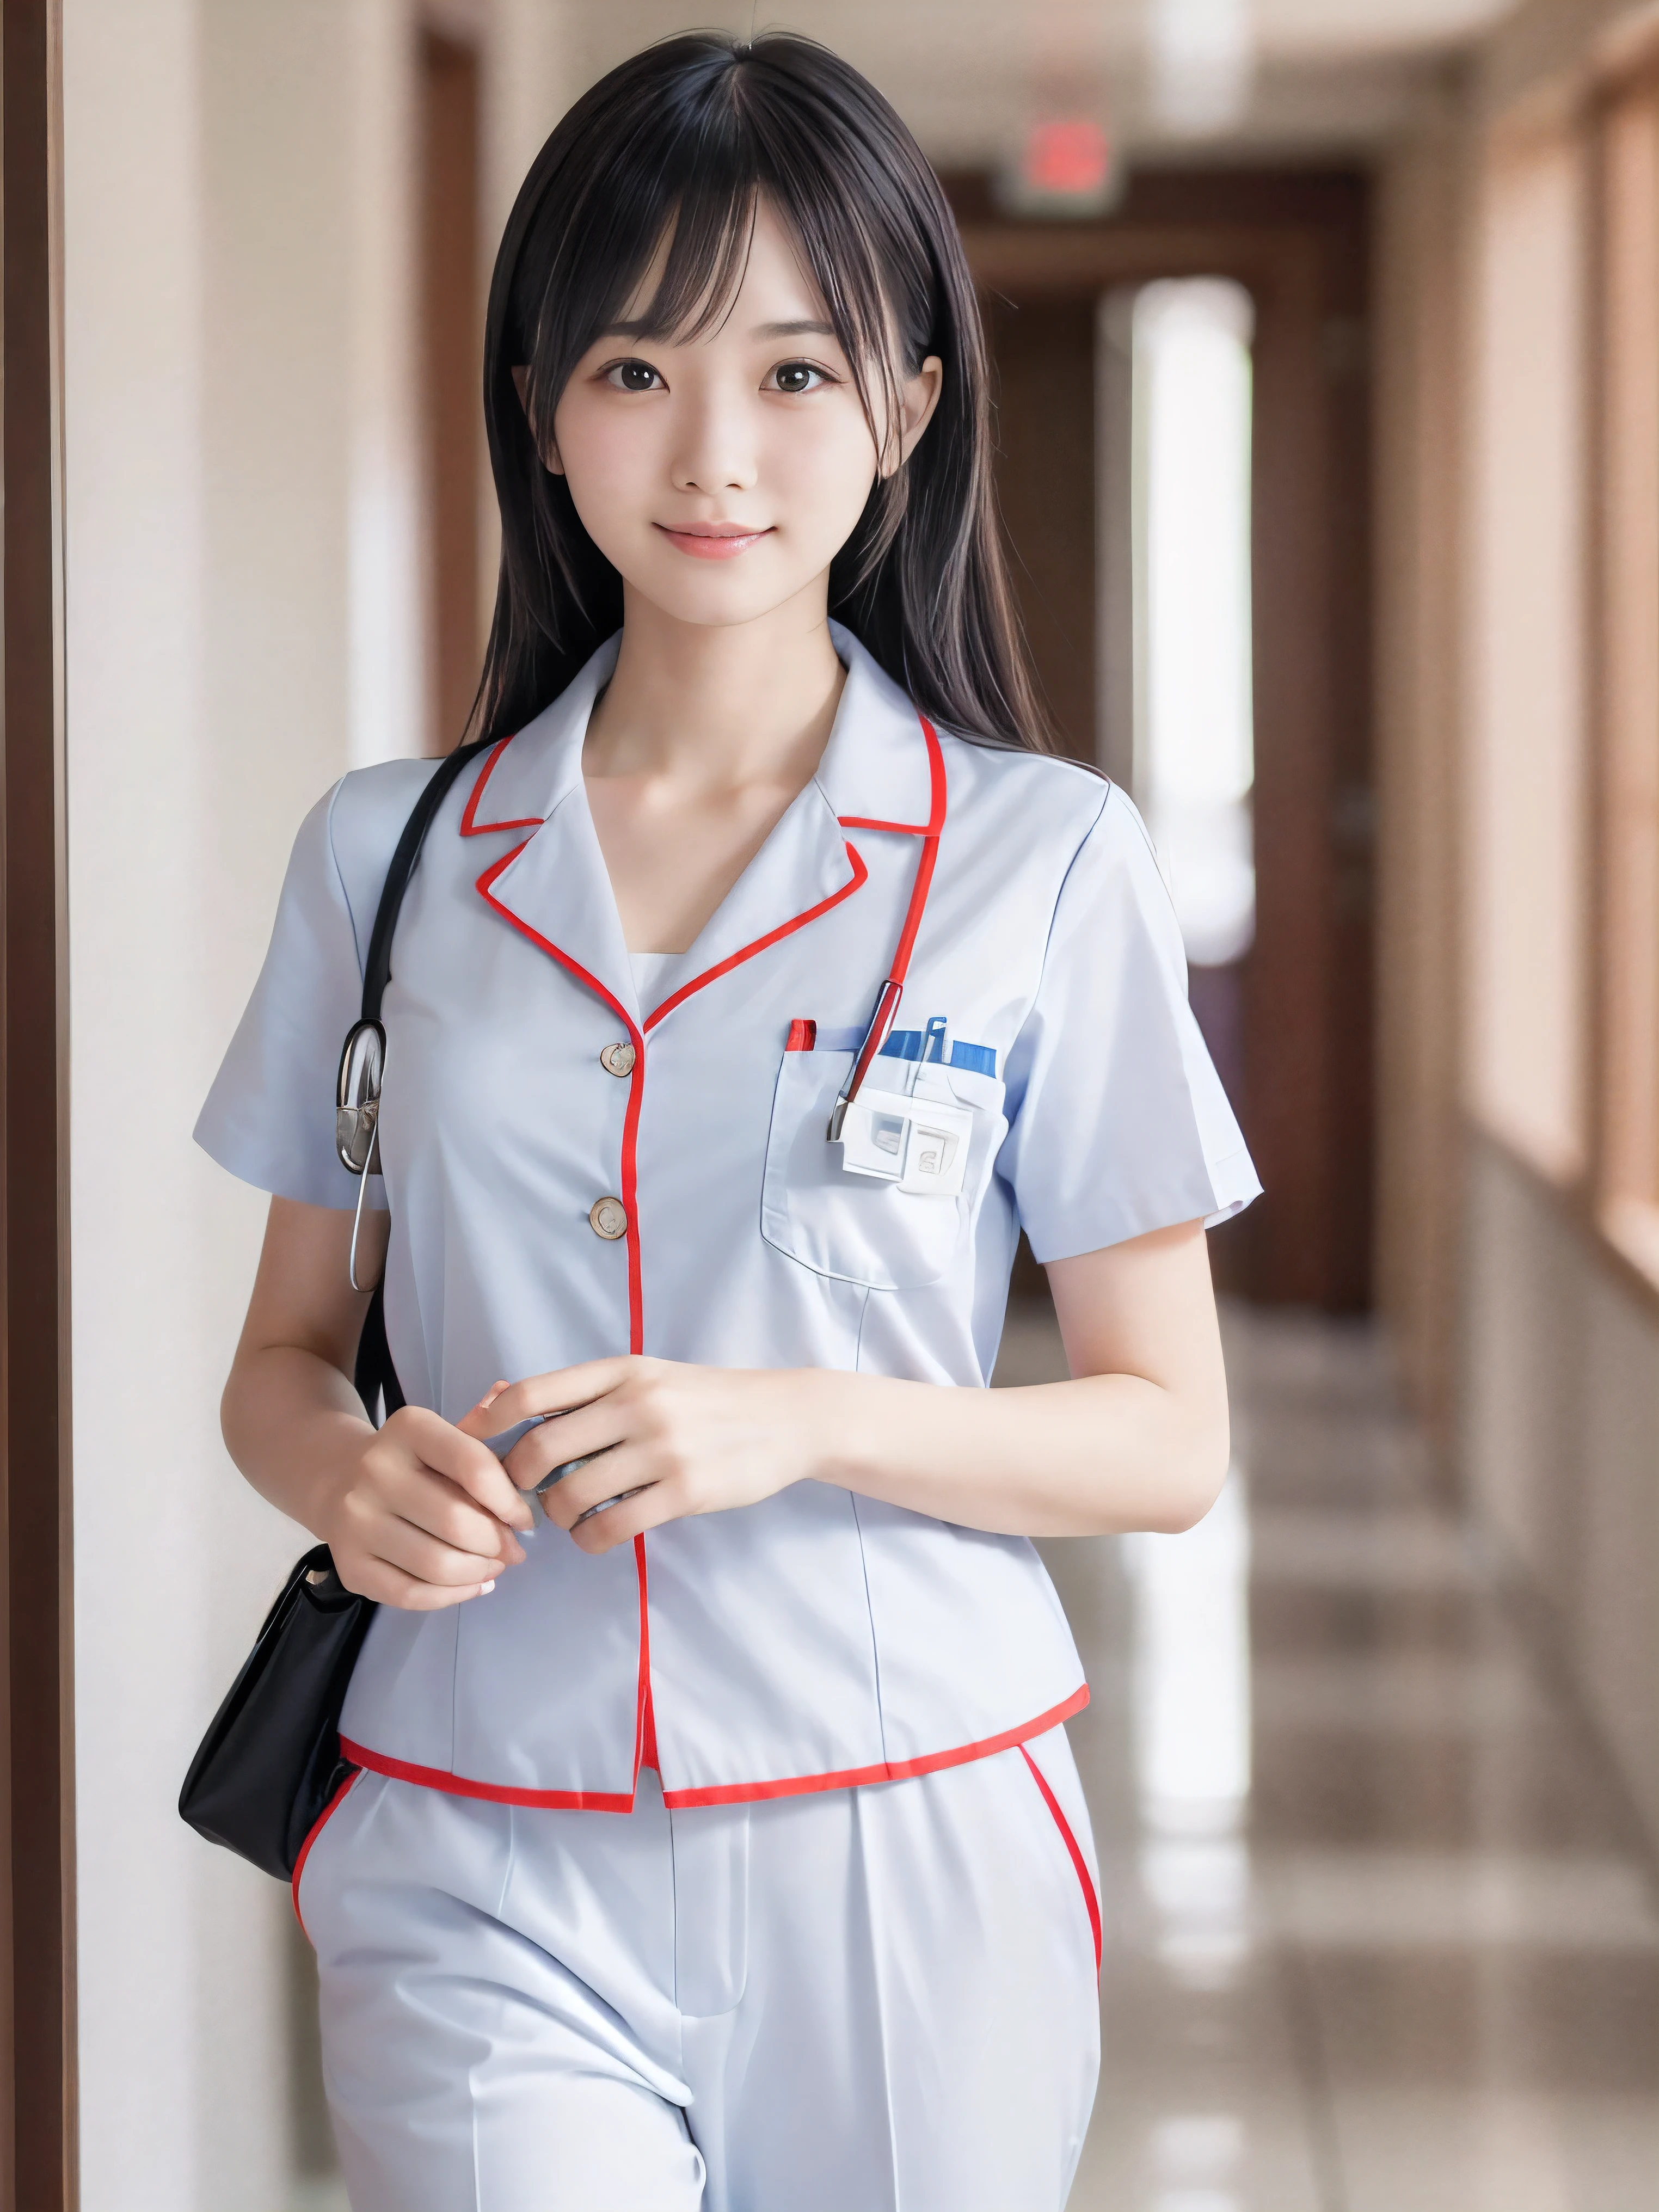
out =
[[325,1535],[374,1429],[330,1360],[296,1345],[243,1347],[219,1420],[248,1482],[312,1535]]

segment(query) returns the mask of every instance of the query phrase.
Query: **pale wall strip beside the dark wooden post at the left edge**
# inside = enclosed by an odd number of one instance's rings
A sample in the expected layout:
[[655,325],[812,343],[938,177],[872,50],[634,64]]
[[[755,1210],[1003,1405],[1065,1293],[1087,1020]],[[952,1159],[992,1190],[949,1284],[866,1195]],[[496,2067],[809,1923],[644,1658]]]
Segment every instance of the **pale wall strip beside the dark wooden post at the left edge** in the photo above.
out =
[[[122,0],[66,11],[77,1902],[91,2212],[199,2201],[219,2099],[246,2139],[254,2190],[276,2159],[263,2097],[239,2095],[234,2079],[237,2057],[263,2055],[274,1922],[241,1869],[201,1865],[168,1803],[217,1657],[212,1635],[195,1604],[168,1635],[155,1630],[170,1590],[206,1590],[212,1606],[223,1586],[212,1553],[234,1577],[246,1542],[246,1524],[226,1524],[234,1506],[217,1484],[226,1332],[201,1256],[246,1243],[252,1221],[188,1155],[212,958],[201,891],[179,867],[204,818],[197,71],[188,0],[142,15]],[[223,2081],[199,2033],[212,1949],[252,1995]],[[135,2053],[148,2064],[135,2066]]]

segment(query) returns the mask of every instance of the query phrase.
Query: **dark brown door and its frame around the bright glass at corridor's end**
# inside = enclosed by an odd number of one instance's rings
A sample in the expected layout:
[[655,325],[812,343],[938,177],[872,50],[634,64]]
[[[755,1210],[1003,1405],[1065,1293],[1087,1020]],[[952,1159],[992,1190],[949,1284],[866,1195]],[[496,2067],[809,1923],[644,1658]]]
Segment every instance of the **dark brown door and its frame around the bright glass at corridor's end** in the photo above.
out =
[[[1256,942],[1234,1104],[1267,1186],[1217,1232],[1263,1301],[1371,1292],[1367,186],[1150,173],[1102,221],[1011,221],[947,179],[1000,374],[1015,586],[1055,721],[1095,754],[1095,314],[1117,285],[1232,276],[1254,338]],[[1110,681],[1108,670],[1108,681]]]

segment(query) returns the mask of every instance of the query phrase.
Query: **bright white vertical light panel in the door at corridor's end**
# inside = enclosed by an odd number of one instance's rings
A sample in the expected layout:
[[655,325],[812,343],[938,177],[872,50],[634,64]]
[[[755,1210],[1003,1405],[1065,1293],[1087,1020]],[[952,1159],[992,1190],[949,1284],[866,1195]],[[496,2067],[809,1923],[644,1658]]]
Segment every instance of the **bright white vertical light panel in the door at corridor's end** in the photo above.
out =
[[1188,958],[1256,925],[1250,659],[1250,338],[1243,285],[1135,299],[1135,783]]

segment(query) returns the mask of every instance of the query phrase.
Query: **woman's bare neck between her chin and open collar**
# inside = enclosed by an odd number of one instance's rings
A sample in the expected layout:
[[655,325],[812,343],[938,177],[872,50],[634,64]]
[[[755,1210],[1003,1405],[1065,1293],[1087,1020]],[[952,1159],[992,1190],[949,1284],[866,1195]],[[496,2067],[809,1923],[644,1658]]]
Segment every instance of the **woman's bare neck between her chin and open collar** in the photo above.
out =
[[823,588],[726,628],[677,622],[624,591],[622,650],[588,723],[586,774],[805,783],[841,681]]

